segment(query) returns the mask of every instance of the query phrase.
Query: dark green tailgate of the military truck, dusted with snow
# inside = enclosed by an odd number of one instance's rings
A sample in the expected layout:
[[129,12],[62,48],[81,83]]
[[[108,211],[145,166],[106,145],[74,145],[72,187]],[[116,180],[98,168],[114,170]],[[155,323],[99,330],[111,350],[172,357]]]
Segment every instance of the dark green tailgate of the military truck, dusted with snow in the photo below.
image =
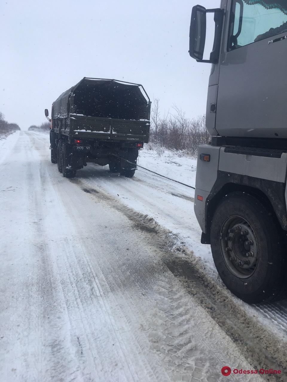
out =
[[148,142],[150,121],[86,117],[70,114],[70,135],[75,138]]

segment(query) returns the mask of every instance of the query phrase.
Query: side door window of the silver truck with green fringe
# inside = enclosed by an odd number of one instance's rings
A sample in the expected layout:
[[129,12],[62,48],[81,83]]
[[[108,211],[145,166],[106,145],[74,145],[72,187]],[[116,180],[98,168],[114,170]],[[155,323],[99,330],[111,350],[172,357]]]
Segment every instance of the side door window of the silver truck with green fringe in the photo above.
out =
[[234,0],[229,50],[287,31],[286,0]]

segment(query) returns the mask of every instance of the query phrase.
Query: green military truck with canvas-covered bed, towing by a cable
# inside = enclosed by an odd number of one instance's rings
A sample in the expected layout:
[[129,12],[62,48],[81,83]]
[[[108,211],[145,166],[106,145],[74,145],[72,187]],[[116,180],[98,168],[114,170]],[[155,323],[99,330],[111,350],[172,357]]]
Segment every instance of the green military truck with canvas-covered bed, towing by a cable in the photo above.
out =
[[51,162],[73,178],[87,163],[134,176],[148,142],[150,99],[140,84],[84,77],[52,104]]

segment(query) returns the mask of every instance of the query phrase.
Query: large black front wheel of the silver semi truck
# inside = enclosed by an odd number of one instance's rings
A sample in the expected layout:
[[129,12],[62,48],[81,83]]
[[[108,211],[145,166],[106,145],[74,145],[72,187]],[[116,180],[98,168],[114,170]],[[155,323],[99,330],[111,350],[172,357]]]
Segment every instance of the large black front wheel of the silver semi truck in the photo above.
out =
[[236,296],[249,304],[285,297],[284,238],[258,199],[228,194],[215,210],[210,243],[216,269]]

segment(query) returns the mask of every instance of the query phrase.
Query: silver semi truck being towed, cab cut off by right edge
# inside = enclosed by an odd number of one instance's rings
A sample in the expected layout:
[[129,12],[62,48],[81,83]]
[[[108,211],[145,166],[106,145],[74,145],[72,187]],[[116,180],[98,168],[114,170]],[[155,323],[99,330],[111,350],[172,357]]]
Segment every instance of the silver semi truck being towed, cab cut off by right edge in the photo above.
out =
[[[215,3],[215,2],[212,2]],[[204,59],[206,14],[214,45]],[[213,23],[213,22],[212,22]],[[287,0],[192,9],[189,54],[211,63],[194,210],[223,282],[247,303],[286,296]]]

